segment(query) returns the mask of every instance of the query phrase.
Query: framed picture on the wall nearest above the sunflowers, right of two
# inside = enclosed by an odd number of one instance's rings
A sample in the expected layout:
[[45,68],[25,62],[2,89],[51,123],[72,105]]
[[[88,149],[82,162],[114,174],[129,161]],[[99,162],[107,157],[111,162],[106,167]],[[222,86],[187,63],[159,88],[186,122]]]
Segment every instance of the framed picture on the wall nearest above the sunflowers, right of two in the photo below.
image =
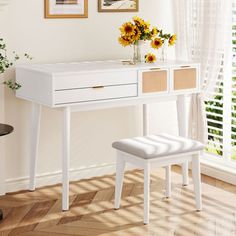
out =
[[98,0],[99,12],[135,12],[139,9],[139,0]]

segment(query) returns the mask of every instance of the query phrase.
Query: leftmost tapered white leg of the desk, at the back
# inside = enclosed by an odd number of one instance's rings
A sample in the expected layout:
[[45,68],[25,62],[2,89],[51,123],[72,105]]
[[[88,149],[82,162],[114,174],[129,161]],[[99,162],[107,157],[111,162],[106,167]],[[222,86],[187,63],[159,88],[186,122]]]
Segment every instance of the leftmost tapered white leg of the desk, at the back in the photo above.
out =
[[38,159],[39,134],[40,134],[41,105],[32,104],[31,117],[31,148],[30,148],[30,183],[29,189],[35,190],[35,174]]

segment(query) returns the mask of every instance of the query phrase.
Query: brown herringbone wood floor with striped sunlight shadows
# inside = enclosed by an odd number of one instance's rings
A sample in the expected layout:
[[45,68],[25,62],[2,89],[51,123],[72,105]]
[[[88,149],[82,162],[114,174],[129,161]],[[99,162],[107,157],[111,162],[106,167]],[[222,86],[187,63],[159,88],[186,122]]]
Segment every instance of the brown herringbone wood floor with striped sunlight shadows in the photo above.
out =
[[173,167],[173,194],[164,198],[164,170],[152,171],[151,222],[143,225],[143,172],[126,173],[122,208],[115,211],[114,176],[71,183],[68,212],[61,212],[60,185],[0,198],[5,219],[0,235],[17,236],[233,236],[236,235],[236,186],[202,176],[203,211],[195,211],[193,186],[181,186]]

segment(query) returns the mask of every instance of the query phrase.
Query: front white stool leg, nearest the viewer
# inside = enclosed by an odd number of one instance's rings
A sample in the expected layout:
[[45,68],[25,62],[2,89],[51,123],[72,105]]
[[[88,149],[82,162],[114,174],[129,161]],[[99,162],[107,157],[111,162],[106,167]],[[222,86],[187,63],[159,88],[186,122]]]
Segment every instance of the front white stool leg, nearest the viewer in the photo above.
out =
[[150,201],[150,164],[144,167],[144,224],[149,223],[149,203]]

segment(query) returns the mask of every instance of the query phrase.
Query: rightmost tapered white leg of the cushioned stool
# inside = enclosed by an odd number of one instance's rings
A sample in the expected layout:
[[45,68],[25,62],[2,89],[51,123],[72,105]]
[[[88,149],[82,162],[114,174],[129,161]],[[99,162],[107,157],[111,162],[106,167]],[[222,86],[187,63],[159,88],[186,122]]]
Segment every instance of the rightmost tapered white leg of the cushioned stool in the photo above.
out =
[[201,172],[199,155],[192,158],[192,176],[197,210],[202,210]]

